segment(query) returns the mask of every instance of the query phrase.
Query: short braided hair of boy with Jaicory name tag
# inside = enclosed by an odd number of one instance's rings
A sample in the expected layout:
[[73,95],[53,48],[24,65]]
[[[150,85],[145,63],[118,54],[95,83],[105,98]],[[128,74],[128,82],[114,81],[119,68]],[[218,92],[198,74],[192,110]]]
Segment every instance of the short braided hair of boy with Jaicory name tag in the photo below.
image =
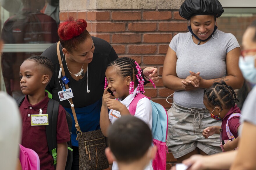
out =
[[[33,56],[29,57],[26,60],[33,60],[34,62],[38,63],[39,65],[42,65],[44,68],[47,68],[50,72],[51,75],[54,73],[54,68],[51,60],[45,56]],[[26,61],[24,60],[24,61]]]

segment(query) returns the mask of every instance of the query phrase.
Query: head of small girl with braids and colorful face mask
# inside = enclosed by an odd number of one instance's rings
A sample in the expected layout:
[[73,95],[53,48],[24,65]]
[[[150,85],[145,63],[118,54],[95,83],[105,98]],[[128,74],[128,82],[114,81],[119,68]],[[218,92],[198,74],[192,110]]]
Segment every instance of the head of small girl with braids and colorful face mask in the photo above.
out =
[[209,89],[204,90],[203,102],[213,119],[222,120],[236,101],[239,101],[236,93],[224,81],[213,83]]

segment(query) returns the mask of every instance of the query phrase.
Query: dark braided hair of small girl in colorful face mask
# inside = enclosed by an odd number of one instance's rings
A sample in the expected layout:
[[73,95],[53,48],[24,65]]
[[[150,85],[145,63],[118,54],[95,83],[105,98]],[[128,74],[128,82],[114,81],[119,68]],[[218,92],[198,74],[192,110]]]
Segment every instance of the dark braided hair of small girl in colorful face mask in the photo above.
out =
[[236,101],[236,93],[231,86],[224,81],[221,83],[213,83],[209,89],[204,90],[204,99],[210,106],[218,105],[221,110],[234,107]]

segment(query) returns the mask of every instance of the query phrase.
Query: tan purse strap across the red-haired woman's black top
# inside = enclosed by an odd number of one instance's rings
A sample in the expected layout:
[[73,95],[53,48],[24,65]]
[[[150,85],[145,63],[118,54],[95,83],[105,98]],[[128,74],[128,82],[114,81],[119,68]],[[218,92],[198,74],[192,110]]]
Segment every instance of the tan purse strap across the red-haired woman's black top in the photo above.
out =
[[[63,65],[62,65],[62,61],[61,61],[60,41],[57,43],[57,54],[58,54],[59,64],[60,64],[60,67],[61,67],[62,76],[65,76],[65,71],[64,71],[64,68],[63,68]],[[65,84],[65,87],[66,87],[66,89],[69,89],[68,84]],[[69,100],[70,103],[73,104],[72,98],[67,99],[67,100]],[[72,110],[72,113],[73,113],[73,116],[74,116],[74,119],[75,119],[75,123],[76,123],[75,128],[77,129],[77,139],[78,139],[78,134],[80,133],[80,135],[82,135],[82,132],[80,130],[80,126],[79,126],[78,121],[77,121],[77,115],[76,115],[76,112],[75,112],[75,108],[71,107],[71,110]]]

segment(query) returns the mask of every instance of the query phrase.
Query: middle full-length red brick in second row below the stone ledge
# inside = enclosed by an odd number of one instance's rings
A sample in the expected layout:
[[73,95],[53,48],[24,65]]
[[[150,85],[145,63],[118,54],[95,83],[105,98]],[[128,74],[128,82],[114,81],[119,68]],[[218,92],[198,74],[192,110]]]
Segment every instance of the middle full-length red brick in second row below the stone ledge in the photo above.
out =
[[129,23],[129,31],[156,31],[157,23]]

